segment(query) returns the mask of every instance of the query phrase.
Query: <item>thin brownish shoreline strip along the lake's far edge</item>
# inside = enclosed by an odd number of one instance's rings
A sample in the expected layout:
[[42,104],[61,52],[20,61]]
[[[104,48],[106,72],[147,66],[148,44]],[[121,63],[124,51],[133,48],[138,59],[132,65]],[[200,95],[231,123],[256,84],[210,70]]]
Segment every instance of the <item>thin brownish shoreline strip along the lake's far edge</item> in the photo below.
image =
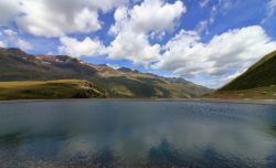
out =
[[64,98],[64,99],[10,99],[0,101],[0,104],[13,103],[43,103],[43,102],[194,102],[194,103],[231,103],[276,105],[276,99],[221,99],[221,98]]

